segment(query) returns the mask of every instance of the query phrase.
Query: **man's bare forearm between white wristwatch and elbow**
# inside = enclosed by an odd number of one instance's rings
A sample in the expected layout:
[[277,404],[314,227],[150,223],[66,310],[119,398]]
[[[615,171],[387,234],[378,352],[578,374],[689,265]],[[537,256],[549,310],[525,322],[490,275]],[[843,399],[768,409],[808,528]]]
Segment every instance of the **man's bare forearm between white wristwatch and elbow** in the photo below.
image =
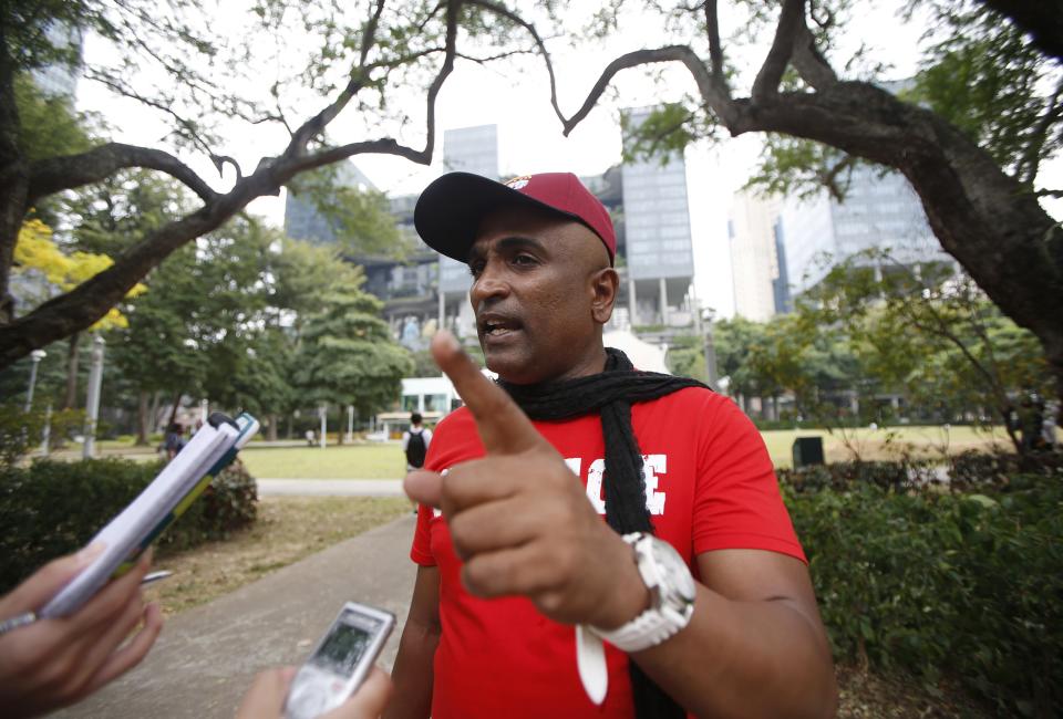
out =
[[736,602],[698,585],[690,624],[631,655],[699,717],[830,717],[837,689],[817,628],[788,602]]

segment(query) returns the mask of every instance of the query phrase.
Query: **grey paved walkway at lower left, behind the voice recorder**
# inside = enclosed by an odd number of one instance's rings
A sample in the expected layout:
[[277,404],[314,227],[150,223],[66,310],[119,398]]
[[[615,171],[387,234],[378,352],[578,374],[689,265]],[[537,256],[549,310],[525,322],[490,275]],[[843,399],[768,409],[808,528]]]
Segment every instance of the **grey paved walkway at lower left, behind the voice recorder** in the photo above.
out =
[[413,527],[403,517],[172,617],[141,666],[53,716],[231,719],[255,674],[301,664],[349,600],[395,613],[381,659],[391,667],[413,591]]

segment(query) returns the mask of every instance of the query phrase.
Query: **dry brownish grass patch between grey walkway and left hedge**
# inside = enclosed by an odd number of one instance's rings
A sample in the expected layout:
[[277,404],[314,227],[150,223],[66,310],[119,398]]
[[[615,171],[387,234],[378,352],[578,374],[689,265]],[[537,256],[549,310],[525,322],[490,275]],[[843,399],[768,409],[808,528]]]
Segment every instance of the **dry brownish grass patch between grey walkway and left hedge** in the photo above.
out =
[[145,595],[159,601],[163,614],[173,615],[409,511],[410,501],[399,497],[265,497],[249,529],[227,541],[157,558],[153,569],[174,575]]

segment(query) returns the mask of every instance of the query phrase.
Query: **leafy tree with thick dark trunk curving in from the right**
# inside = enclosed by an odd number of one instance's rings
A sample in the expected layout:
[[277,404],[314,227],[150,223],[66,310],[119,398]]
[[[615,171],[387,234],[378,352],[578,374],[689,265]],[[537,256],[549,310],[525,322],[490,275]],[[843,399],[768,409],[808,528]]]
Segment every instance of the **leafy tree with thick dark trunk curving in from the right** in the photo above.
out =
[[[561,111],[556,91],[553,107],[567,134],[618,73],[677,63],[695,92],[647,123],[643,150],[765,133],[760,176],[775,189],[816,183],[842,195],[855,163],[901,173],[942,248],[1004,314],[1038,336],[1063,397],[1063,314],[1047,311],[1063,296],[1063,228],[1033,187],[1063,127],[1059,20],[1047,21],[1035,0],[911,4],[928,8],[939,35],[950,37],[933,46],[912,88],[883,86],[863,55],[838,56],[842,18],[857,8],[846,0],[736,3],[734,28],[722,27],[719,3],[706,0],[656,3],[675,44],[612,59],[575,112]],[[619,0],[597,13],[595,28],[607,34],[632,18],[647,22]],[[530,23],[525,30],[553,79],[547,42]],[[756,72],[744,72],[734,60],[739,45],[761,34],[772,37],[771,45]]]

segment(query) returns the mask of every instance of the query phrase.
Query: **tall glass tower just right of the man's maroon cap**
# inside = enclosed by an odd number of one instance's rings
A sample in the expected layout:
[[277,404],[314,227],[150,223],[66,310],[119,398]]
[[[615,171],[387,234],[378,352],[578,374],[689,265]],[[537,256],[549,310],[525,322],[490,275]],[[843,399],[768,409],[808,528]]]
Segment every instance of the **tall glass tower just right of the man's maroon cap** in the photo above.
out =
[[[625,111],[626,126],[638,128],[653,110]],[[630,323],[687,325],[692,320],[694,272],[687,164],[681,154],[669,153],[625,163],[621,176]]]

